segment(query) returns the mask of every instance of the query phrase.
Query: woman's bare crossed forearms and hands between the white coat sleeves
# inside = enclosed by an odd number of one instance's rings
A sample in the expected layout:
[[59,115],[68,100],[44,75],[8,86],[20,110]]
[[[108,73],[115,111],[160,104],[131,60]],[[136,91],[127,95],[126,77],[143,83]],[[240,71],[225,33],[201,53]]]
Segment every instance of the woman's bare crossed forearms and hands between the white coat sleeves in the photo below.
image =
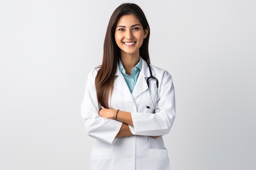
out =
[[[106,119],[116,119],[117,121],[123,122],[119,132],[117,133],[116,137],[126,137],[126,136],[132,136],[132,132],[130,131],[130,128],[128,125],[133,127],[133,122],[132,122],[132,115],[130,112],[125,112],[125,111],[118,111],[115,109],[109,109],[109,108],[102,108],[99,110],[99,115],[100,117],[106,118]],[[159,136],[150,136],[153,138],[157,138]]]

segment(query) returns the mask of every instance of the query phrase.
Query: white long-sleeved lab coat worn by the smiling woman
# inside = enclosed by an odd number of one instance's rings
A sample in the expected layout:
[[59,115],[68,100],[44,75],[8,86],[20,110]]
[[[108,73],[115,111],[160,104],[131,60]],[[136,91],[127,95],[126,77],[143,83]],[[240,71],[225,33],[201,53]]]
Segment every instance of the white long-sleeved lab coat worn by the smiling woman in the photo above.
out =
[[[150,65],[153,76],[159,81],[159,110],[146,108],[152,107],[146,84],[150,72],[146,62],[142,61],[132,94],[117,66],[109,100],[110,108],[131,113],[134,127],[129,128],[134,136],[116,137],[122,122],[99,116],[101,106],[94,86],[98,70],[88,75],[81,113],[86,132],[96,139],[91,152],[90,170],[169,170],[168,153],[162,136],[156,139],[150,136],[166,135],[173,125],[175,98],[172,77],[167,71]],[[155,82],[150,81],[153,102],[156,100],[155,89]]]

